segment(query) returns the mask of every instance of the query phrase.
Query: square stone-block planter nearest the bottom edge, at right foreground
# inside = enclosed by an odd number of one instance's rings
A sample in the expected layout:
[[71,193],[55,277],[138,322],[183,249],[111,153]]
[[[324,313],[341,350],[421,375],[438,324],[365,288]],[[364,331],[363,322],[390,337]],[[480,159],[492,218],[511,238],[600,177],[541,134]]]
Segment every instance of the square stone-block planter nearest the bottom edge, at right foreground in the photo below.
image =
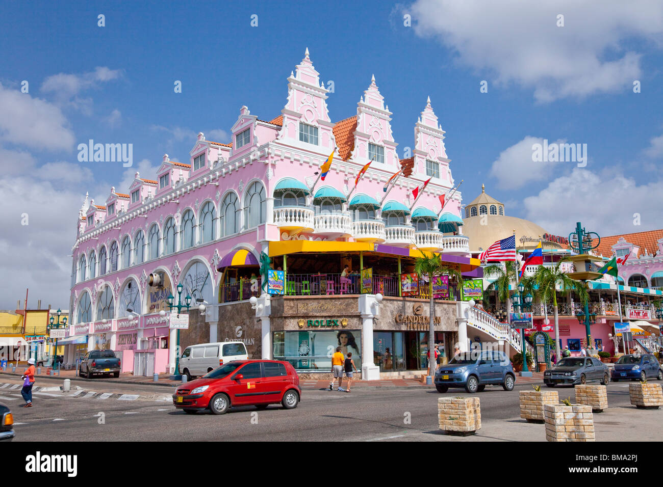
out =
[[595,441],[591,406],[546,404],[544,416],[548,441]]

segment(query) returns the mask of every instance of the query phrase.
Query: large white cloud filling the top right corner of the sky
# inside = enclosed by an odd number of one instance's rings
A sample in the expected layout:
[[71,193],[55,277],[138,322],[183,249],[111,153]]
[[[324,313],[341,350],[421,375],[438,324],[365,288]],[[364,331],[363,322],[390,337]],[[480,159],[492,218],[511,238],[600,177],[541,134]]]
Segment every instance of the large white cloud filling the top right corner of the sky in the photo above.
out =
[[[534,89],[537,101],[632,89],[640,80],[633,39],[662,39],[663,3],[656,0],[416,0],[414,30],[452,48],[459,61],[497,85]],[[564,27],[557,16],[564,15]]]

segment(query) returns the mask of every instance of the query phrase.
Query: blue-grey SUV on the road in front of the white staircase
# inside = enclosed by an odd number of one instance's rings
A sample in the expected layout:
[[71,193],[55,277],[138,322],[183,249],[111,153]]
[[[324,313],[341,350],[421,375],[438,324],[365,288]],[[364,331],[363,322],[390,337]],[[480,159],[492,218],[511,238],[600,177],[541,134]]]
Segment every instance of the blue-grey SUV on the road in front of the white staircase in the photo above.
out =
[[502,386],[505,391],[513,390],[516,374],[504,352],[465,352],[456,355],[435,372],[435,387],[438,392],[447,392],[450,387],[464,387],[471,394],[483,391],[486,386]]

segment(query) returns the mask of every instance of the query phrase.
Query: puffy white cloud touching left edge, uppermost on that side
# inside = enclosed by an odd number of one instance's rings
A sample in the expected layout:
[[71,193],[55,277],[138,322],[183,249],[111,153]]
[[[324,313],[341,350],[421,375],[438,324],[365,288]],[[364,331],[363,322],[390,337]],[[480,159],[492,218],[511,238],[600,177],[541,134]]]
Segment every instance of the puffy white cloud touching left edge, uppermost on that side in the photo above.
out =
[[38,150],[71,150],[74,133],[52,103],[0,85],[0,140]]

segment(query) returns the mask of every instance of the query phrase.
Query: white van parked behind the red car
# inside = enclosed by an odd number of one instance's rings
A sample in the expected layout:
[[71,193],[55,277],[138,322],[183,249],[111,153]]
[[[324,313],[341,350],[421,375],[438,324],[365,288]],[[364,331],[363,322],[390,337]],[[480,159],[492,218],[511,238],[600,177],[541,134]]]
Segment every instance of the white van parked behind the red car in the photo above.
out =
[[180,370],[188,380],[203,376],[231,360],[247,360],[249,355],[242,342],[201,343],[186,347],[180,357]]

